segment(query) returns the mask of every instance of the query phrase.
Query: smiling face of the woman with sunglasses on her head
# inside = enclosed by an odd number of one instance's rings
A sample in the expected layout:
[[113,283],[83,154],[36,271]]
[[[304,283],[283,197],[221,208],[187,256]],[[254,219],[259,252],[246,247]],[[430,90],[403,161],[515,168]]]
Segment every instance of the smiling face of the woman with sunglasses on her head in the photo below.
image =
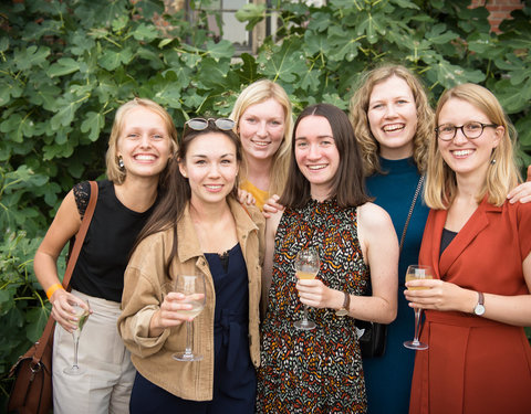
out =
[[235,144],[222,132],[206,132],[189,144],[180,173],[188,178],[191,203],[220,203],[235,188],[239,162]]

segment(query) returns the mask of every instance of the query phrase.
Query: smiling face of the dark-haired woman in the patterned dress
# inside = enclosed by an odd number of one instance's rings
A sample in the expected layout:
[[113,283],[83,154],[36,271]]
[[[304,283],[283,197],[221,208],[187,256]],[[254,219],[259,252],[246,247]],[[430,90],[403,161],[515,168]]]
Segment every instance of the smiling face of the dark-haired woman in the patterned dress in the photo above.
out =
[[312,197],[325,200],[340,166],[340,152],[329,120],[315,115],[301,119],[294,134],[294,145],[296,164],[310,181]]

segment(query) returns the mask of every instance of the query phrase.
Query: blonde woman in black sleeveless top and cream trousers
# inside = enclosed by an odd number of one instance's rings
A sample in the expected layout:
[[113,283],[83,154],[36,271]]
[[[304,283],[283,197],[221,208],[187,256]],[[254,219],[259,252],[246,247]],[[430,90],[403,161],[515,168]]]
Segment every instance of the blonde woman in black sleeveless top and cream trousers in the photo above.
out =
[[[116,329],[131,248],[152,214],[168,159],[177,149],[169,114],[149,99],[135,98],[116,112],[106,156],[108,180],[97,182],[98,195],[75,269],[65,291],[56,261],[73,237],[86,210],[91,188],[77,183],[63,200],[34,258],[35,275],[58,321],[53,346],[54,413],[127,413],[135,378],[129,352]],[[65,375],[72,365],[74,304],[93,314],[83,328],[79,362],[82,375]]]

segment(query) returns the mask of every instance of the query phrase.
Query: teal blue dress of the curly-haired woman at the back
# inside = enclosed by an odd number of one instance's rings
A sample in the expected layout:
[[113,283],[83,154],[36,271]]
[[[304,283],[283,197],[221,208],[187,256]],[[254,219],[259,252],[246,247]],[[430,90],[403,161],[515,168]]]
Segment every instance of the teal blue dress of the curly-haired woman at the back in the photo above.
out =
[[[374,203],[391,215],[399,241],[420,176],[412,158],[381,158],[381,166],[388,173],[368,177],[366,184],[368,193],[376,198]],[[363,360],[368,414],[407,414],[409,411],[415,351],[405,348],[403,343],[413,338],[415,322],[414,311],[404,297],[404,283],[407,266],[418,263],[428,212],[420,193],[398,262],[398,314],[387,331],[385,354]]]

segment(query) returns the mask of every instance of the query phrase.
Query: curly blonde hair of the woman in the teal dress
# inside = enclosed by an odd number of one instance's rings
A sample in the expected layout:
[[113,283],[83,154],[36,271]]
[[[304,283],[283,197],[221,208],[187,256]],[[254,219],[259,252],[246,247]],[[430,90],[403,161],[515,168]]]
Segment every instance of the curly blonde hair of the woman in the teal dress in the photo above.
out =
[[366,176],[382,172],[379,166],[379,145],[371,131],[368,124],[368,103],[375,85],[397,76],[406,82],[412,89],[417,107],[417,130],[413,138],[413,158],[419,172],[426,170],[428,142],[433,132],[434,110],[429,105],[426,91],[419,78],[408,68],[402,65],[389,65],[365,72],[358,87],[350,102],[350,114],[352,126],[357,141],[360,142],[363,157],[363,168]]

